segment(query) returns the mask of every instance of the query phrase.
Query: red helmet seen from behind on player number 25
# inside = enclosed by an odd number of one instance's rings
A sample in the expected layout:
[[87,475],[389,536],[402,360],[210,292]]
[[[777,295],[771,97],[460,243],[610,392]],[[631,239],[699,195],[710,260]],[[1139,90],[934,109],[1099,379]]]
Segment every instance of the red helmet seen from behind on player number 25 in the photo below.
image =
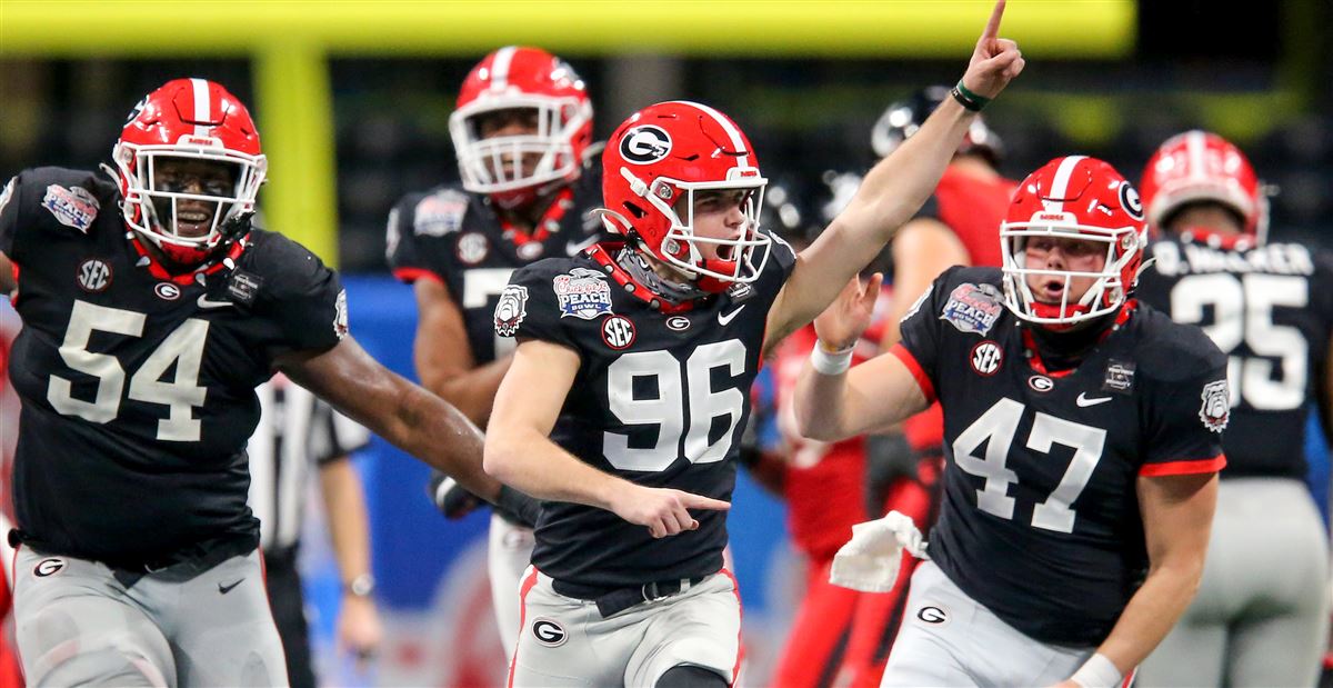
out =
[[1268,237],[1264,184],[1245,153],[1216,133],[1194,129],[1168,139],[1148,160],[1140,185],[1154,231],[1185,204],[1213,201],[1234,212],[1257,243]]

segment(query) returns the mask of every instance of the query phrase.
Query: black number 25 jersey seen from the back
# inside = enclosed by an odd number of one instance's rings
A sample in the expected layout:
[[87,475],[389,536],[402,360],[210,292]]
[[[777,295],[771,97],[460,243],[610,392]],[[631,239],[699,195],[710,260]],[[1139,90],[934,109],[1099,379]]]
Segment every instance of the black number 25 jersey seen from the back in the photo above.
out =
[[1305,421],[1333,331],[1333,257],[1301,244],[1224,249],[1172,236],[1137,296],[1204,328],[1228,355],[1222,477],[1304,480]]

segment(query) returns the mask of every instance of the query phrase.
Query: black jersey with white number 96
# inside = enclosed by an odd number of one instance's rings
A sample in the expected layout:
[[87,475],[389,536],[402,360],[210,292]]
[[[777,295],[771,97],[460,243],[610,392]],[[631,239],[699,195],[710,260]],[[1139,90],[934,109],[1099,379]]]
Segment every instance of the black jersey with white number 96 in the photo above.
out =
[[[515,272],[496,332],[581,356],[552,441],[633,483],[729,501],[768,311],[796,256],[774,240],[756,281],[659,309],[616,279],[617,248],[599,244]],[[722,567],[726,515],[694,516],[697,531],[655,540],[609,511],[545,501],[532,563],[557,581],[597,588],[706,576]]]

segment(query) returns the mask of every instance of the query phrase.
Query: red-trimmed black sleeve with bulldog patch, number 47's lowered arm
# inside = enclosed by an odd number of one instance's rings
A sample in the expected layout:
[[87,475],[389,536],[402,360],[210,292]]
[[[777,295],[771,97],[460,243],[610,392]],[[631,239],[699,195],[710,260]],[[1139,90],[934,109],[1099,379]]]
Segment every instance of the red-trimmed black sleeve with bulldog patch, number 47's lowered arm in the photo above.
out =
[[1222,429],[1230,416],[1226,356],[1193,329],[1178,328],[1190,345],[1177,353],[1178,361],[1194,364],[1193,371],[1156,381],[1149,397],[1142,475],[1201,472],[1196,468],[1222,455]]

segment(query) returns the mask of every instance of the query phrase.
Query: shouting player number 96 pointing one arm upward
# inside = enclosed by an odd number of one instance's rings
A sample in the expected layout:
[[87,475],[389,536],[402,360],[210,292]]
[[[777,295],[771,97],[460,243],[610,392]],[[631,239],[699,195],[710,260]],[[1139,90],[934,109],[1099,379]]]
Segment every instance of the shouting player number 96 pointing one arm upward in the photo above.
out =
[[[603,155],[624,243],[515,272],[519,339],[487,469],[543,503],[513,685],[726,685],[740,599],[722,568],[737,436],[761,353],[808,323],[926,200],[974,111],[1022,69],[997,3],[956,97],[796,256],[761,231],[766,179],[725,115],[632,115]],[[549,437],[549,439],[548,439]]]

